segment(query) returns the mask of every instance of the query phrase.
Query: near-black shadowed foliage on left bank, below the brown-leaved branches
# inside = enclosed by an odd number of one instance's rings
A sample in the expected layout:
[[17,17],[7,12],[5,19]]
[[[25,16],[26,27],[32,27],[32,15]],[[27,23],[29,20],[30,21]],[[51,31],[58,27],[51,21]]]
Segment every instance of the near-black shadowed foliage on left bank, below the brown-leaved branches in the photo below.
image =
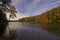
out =
[[5,32],[7,25],[8,22],[6,14],[4,14],[3,11],[0,9],[0,35],[2,35]]

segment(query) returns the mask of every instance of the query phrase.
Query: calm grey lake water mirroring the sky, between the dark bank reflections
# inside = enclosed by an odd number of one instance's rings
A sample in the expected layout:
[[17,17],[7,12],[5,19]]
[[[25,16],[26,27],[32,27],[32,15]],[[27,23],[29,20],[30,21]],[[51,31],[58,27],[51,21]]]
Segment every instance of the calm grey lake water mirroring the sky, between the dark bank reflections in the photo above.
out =
[[[9,22],[10,29],[17,30],[17,40],[60,40],[60,37],[43,30],[41,24]],[[7,29],[8,33],[8,29]]]

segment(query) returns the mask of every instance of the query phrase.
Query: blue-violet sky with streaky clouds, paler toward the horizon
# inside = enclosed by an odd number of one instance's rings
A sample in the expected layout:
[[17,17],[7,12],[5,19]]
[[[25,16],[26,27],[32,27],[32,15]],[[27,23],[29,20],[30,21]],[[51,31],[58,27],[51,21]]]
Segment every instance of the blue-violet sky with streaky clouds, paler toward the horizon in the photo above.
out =
[[60,6],[60,0],[12,0],[16,7],[17,18],[29,17],[42,14],[47,10]]

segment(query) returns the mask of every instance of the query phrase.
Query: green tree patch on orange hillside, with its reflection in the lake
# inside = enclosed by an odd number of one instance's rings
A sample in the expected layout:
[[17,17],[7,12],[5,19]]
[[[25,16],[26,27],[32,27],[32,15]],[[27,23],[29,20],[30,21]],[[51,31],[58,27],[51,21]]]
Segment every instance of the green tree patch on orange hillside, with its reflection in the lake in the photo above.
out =
[[54,10],[52,10],[51,12],[50,12],[50,14],[49,14],[49,20],[51,20],[51,22],[49,22],[49,28],[50,28],[50,30],[57,30],[57,17],[56,17],[56,14],[57,14],[57,12],[56,12],[56,10],[54,9]]

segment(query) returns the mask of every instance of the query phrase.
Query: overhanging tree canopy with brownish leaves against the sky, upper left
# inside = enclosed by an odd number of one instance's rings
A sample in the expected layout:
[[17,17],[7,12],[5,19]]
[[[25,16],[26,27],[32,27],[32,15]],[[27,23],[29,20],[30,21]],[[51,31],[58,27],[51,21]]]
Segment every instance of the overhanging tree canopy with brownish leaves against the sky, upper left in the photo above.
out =
[[10,12],[10,18],[14,18],[17,12],[15,6],[11,5],[11,3],[11,0],[0,0],[0,9],[5,13]]

